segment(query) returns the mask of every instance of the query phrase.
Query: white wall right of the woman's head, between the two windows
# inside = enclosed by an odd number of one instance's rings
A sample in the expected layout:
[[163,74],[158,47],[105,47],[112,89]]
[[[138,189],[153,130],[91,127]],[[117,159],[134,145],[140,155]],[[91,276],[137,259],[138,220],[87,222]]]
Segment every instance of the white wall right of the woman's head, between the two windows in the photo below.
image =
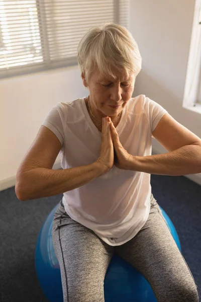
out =
[[[182,107],[194,2],[131,0],[130,31],[142,56],[134,96],[145,94],[201,137],[201,114]],[[167,152],[155,139],[152,150]],[[201,184],[201,174],[188,178]]]

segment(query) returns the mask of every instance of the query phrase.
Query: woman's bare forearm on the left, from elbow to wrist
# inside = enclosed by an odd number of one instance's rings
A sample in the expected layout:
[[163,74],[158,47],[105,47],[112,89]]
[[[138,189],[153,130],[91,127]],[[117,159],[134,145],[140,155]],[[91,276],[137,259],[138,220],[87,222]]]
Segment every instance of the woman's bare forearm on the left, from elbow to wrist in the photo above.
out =
[[53,196],[81,187],[102,174],[103,168],[96,162],[62,170],[35,168],[19,177],[16,195],[22,201]]

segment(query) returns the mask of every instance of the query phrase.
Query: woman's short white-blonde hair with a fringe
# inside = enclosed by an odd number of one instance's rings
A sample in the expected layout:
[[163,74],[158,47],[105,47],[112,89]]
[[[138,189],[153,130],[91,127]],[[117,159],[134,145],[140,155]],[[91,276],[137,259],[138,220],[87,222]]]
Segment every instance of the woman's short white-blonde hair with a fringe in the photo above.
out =
[[116,23],[104,23],[91,27],[81,38],[77,47],[78,65],[86,83],[92,72],[116,79],[112,68],[131,73],[137,77],[142,68],[142,57],[132,34]]

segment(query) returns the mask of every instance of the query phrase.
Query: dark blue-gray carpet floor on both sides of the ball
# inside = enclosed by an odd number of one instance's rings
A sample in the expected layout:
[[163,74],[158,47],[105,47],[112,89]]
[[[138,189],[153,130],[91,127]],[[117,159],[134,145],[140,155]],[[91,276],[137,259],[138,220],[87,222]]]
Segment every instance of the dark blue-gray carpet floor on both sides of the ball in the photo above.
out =
[[[183,176],[161,175],[151,175],[151,185],[175,226],[201,297],[201,186]],[[35,272],[35,247],[46,216],[61,198],[62,194],[23,202],[15,187],[0,192],[1,302],[47,302]]]

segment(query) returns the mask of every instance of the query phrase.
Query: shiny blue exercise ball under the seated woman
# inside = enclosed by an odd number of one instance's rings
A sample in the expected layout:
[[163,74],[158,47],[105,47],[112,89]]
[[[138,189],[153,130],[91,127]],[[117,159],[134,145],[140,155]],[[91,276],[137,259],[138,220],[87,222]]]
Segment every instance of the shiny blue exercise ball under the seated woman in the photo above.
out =
[[[60,204],[60,203],[59,203]],[[49,302],[63,302],[61,274],[52,243],[52,225],[57,204],[48,214],[38,235],[35,268],[40,286]],[[178,235],[168,215],[160,207],[166,224],[181,251]],[[104,281],[105,302],[157,302],[148,281],[116,253]]]

